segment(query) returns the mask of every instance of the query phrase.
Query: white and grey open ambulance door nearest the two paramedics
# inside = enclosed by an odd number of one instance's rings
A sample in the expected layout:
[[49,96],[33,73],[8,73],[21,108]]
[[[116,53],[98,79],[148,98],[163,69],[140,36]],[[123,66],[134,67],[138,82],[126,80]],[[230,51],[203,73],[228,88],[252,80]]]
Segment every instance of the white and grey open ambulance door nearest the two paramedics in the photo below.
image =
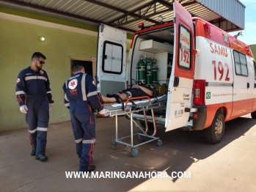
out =
[[102,95],[126,89],[126,32],[100,24],[96,67],[97,90]]

